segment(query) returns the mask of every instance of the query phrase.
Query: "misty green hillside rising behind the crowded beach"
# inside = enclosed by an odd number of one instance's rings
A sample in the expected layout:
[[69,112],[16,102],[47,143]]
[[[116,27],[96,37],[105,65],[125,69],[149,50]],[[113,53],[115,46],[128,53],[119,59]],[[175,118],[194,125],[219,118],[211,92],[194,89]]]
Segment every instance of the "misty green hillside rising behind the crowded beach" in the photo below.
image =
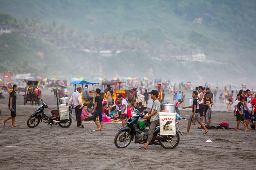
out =
[[13,28],[0,71],[246,82],[256,62],[256,0],[8,0],[0,12]]

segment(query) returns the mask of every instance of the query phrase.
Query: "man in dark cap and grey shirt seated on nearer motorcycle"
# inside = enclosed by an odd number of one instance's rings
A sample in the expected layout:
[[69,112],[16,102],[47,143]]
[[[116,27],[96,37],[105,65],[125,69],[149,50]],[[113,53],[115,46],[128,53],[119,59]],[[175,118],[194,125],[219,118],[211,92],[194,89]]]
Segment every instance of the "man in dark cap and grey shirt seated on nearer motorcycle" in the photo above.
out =
[[148,94],[151,94],[150,97],[151,97],[151,99],[153,99],[153,105],[152,105],[151,111],[149,112],[148,116],[143,117],[144,119],[150,118],[150,125],[149,125],[149,130],[148,130],[147,143],[143,147],[140,147],[140,149],[148,149],[148,144],[150,144],[151,140],[153,139],[154,130],[159,125],[159,114],[158,113],[160,111],[160,102],[157,99],[158,91],[152,90]]

